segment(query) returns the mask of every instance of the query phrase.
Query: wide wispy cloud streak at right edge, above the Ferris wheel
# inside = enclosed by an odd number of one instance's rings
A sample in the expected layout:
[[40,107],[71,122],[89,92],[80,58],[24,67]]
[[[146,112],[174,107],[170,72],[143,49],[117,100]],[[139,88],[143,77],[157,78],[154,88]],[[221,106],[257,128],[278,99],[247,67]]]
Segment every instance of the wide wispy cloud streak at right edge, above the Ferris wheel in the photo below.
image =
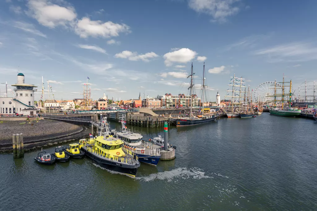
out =
[[313,43],[293,42],[259,50],[256,55],[267,55],[268,62],[302,62],[317,59]]

